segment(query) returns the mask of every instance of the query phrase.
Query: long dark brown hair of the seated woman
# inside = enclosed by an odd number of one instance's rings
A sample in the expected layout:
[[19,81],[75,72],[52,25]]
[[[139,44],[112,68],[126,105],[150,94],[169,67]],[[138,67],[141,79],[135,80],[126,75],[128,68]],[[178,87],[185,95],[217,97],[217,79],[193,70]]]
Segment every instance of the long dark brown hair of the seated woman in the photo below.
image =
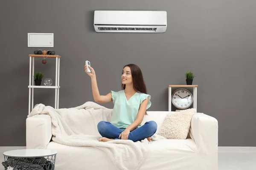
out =
[[[134,90],[140,93],[147,94],[147,88],[146,88],[140,67],[136,64],[128,64],[128,65],[125,65],[124,68],[127,66],[130,67],[131,69],[131,76],[132,76]],[[122,90],[124,89],[125,89],[125,85],[122,84]],[[147,112],[145,114],[148,115]]]

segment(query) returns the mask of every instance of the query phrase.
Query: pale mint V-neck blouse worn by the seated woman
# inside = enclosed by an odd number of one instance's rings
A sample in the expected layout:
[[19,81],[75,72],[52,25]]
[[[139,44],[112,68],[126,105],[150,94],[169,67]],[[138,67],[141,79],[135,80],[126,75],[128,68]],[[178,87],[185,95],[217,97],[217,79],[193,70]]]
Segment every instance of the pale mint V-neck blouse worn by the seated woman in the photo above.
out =
[[149,94],[137,92],[129,100],[127,100],[124,90],[118,92],[111,91],[111,95],[114,104],[111,123],[122,130],[125,130],[126,127],[136,120],[140,104],[143,100],[148,98],[147,109],[151,106],[151,96]]

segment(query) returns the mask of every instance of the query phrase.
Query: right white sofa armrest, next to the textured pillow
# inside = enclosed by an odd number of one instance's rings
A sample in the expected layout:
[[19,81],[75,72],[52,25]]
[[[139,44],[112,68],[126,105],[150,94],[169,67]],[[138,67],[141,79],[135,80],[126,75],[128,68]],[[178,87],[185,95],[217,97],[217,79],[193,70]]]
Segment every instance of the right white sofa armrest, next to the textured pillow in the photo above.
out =
[[195,141],[198,154],[206,161],[202,166],[217,170],[218,167],[218,121],[212,116],[204,113],[195,113],[191,120],[189,131],[191,139]]

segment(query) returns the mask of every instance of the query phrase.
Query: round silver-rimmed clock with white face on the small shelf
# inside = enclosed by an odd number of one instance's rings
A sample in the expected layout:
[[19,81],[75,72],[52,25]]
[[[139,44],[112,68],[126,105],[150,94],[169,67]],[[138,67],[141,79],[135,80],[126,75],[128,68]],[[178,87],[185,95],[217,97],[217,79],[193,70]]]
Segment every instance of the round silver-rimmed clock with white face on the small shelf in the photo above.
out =
[[190,91],[179,88],[172,94],[172,104],[179,109],[187,109],[192,105],[193,96]]

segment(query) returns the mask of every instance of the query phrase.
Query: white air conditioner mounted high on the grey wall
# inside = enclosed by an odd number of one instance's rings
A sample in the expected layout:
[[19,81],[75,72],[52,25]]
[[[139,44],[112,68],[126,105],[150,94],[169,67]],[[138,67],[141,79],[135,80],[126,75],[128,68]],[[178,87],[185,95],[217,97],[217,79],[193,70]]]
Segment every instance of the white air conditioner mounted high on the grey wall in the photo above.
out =
[[94,11],[96,32],[163,33],[166,11]]

